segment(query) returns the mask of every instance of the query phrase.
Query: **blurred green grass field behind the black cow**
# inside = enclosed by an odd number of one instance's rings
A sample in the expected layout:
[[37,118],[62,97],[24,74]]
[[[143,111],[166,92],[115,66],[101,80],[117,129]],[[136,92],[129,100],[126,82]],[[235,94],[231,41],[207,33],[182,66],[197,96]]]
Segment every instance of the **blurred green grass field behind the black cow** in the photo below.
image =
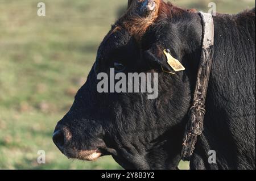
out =
[[[112,157],[69,160],[52,142],[52,132],[73,102],[114,23],[123,0],[0,0],[0,169],[121,169]],[[207,0],[175,5],[208,9]],[[217,0],[218,12],[254,7],[254,0]],[[46,164],[37,163],[38,150]],[[181,163],[181,169],[188,169]]]

